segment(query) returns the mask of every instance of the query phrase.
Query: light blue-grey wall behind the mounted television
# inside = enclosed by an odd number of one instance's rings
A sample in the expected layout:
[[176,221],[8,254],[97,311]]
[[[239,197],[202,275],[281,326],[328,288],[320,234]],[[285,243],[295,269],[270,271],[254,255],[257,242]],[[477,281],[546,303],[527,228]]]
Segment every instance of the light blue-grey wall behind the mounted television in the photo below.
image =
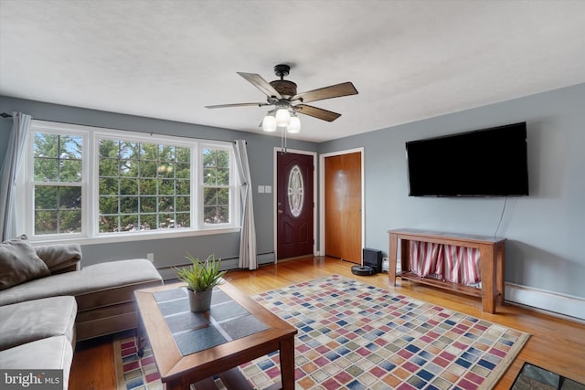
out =
[[507,238],[505,280],[585,297],[585,84],[324,142],[319,153],[364,147],[366,247],[388,253],[387,232],[400,227],[494,236],[505,205],[408,196],[405,142],[519,121],[530,196],[507,199],[497,230]]

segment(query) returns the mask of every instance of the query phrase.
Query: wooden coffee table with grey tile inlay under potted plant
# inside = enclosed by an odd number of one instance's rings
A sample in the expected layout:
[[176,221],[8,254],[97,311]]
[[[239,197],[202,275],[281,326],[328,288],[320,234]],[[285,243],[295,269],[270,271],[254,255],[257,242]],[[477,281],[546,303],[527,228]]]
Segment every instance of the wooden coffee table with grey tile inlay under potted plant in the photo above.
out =
[[[189,389],[191,384],[196,389],[216,388],[212,379],[216,374],[229,389],[251,389],[239,364],[274,351],[280,352],[281,383],[269,388],[294,388],[296,328],[229,283],[216,288],[210,311],[191,313],[188,301],[180,297],[183,287],[176,283],[134,292],[142,331],[165,389]],[[229,315],[234,319],[226,319]],[[197,351],[198,343],[204,349]]]

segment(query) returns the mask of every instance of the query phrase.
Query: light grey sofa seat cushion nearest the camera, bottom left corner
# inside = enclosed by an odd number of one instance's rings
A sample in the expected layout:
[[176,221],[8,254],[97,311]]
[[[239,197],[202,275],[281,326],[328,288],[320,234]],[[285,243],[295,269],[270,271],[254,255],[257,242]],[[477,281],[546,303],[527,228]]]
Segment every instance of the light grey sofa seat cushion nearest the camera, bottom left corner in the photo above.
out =
[[66,336],[49,337],[0,351],[3,370],[63,370],[63,389],[69,387],[73,347]]

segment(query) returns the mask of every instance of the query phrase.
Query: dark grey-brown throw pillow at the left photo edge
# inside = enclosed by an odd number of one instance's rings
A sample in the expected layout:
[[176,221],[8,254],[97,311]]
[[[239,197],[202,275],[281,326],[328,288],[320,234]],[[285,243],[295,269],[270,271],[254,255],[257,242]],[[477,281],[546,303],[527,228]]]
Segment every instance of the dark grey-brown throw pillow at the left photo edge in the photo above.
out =
[[47,265],[30,246],[27,236],[0,244],[0,290],[50,274]]

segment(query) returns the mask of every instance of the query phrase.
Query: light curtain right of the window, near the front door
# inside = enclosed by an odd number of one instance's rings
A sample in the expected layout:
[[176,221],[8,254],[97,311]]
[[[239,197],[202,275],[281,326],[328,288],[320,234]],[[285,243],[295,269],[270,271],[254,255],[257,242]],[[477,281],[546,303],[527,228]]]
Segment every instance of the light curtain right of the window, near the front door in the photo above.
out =
[[234,146],[241,186],[242,219],[239,236],[239,268],[257,269],[256,258],[256,226],[254,225],[254,206],[252,205],[252,183],[246,141],[238,140]]

